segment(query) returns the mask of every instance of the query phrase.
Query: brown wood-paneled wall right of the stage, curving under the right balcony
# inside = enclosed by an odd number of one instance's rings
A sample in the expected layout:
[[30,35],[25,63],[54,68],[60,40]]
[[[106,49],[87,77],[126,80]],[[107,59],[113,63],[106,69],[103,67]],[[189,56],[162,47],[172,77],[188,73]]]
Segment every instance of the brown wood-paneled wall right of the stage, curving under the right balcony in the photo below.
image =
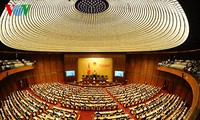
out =
[[180,96],[189,105],[192,102],[190,85],[182,78],[156,70],[158,62],[166,60],[171,54],[127,54],[126,79],[128,83],[147,83],[159,86]]

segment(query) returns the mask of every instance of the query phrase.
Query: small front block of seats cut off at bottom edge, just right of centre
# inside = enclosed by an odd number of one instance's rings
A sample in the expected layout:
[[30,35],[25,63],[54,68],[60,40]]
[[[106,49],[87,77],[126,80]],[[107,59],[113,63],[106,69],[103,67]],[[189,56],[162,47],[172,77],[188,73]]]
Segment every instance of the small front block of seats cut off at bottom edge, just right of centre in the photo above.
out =
[[129,120],[128,114],[124,113],[124,110],[113,110],[104,112],[95,112],[94,120]]

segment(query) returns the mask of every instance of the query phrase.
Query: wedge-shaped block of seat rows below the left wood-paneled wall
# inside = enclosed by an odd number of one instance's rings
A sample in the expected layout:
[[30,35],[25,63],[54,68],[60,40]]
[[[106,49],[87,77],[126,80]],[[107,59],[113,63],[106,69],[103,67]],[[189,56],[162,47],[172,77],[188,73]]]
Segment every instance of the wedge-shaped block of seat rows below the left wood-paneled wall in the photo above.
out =
[[51,104],[57,104],[81,90],[80,87],[61,83],[37,84],[29,86],[29,88],[41,99]]

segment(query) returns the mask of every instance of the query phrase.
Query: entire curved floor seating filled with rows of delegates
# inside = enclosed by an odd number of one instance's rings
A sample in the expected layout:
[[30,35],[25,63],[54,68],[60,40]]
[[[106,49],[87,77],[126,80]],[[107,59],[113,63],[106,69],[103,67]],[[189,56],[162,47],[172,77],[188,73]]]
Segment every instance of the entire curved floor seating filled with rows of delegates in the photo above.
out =
[[45,102],[28,90],[12,92],[1,101],[0,120],[78,120],[78,110],[96,111],[94,120],[128,120],[130,116],[139,120],[182,120],[189,113],[189,107],[180,97],[159,93],[161,88],[146,84],[106,87],[124,107],[131,106],[127,108],[129,114],[121,107],[119,110],[118,103],[100,87],[45,83],[29,88]]

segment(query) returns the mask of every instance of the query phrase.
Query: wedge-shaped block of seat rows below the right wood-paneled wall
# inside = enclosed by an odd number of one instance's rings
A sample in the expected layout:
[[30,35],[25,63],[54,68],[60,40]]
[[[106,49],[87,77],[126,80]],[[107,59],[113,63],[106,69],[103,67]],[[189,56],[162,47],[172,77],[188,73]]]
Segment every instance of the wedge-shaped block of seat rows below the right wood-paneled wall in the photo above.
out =
[[130,107],[154,97],[161,88],[146,84],[129,84],[106,87],[106,89],[124,107]]

